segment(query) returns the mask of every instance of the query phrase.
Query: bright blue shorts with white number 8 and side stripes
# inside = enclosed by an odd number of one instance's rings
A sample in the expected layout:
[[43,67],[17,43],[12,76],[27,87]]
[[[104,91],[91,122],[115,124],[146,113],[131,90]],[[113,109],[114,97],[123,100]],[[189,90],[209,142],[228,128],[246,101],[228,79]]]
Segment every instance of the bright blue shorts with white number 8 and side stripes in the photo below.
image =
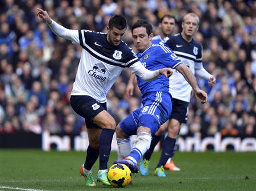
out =
[[161,124],[166,122],[172,111],[171,94],[150,92],[143,96],[142,107],[133,111],[122,122],[120,127],[127,136],[136,135],[138,127],[148,127],[155,134]]

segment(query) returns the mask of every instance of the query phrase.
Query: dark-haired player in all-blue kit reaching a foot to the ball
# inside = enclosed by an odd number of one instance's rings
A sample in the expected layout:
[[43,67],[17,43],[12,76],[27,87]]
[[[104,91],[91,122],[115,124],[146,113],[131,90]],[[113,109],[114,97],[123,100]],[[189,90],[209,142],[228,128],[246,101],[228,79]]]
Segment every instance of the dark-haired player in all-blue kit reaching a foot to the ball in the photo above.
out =
[[[207,93],[197,86],[195,77],[170,48],[164,44],[152,44],[152,26],[138,20],[131,27],[133,43],[138,50],[141,63],[150,70],[171,67],[178,70],[195,90],[197,97],[207,101]],[[115,163],[126,164],[131,172],[138,172],[138,160],[148,150],[151,134],[155,134],[161,124],[167,121],[172,110],[172,99],[169,93],[169,81],[160,77],[146,82],[137,75],[139,89],[142,93],[142,107],[133,111],[117,126],[118,158]],[[129,136],[136,135],[137,140],[131,148]]]

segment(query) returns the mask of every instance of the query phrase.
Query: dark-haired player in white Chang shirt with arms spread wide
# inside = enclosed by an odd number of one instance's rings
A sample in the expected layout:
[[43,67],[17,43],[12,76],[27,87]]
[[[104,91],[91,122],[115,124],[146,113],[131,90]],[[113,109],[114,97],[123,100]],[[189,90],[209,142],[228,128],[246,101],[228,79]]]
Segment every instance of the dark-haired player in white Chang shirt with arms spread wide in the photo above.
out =
[[96,186],[91,169],[100,156],[97,181],[110,185],[106,175],[116,124],[114,118],[106,111],[106,94],[125,67],[129,67],[133,73],[146,81],[155,80],[162,74],[170,77],[172,70],[164,68],[151,71],[143,67],[131,48],[121,40],[126,31],[126,20],[123,16],[115,15],[110,18],[108,34],[104,34],[64,28],[42,9],[38,9],[37,15],[46,21],[56,35],[82,47],[71,93],[71,106],[77,114],[85,118],[89,137],[86,160],[80,172],[87,186]]

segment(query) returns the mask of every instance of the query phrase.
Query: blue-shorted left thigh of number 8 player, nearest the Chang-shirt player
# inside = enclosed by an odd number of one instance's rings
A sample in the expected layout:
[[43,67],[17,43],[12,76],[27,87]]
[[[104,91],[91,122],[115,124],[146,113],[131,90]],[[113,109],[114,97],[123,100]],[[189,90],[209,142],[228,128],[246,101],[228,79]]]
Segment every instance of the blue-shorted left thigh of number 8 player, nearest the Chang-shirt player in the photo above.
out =
[[122,132],[127,135],[136,135],[138,128],[138,116],[140,113],[140,109],[134,110],[131,114],[129,114],[123,121],[119,123],[119,126]]

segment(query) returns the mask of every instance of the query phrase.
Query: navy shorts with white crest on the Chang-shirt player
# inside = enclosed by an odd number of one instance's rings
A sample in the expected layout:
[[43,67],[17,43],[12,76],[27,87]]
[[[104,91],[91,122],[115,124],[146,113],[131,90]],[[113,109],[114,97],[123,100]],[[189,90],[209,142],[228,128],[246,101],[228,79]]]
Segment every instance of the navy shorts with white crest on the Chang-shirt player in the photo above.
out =
[[101,128],[93,123],[93,118],[106,110],[106,102],[100,103],[90,96],[71,96],[70,104],[74,111],[85,119],[86,128]]

